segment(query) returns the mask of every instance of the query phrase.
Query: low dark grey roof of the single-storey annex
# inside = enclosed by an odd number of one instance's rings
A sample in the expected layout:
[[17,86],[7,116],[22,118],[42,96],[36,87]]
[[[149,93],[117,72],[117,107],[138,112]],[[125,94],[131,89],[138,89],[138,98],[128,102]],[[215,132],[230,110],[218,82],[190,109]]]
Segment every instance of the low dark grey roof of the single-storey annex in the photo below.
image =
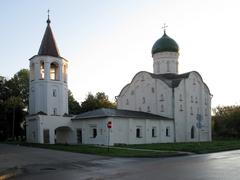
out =
[[105,117],[172,120],[167,117],[146,113],[146,112],[130,111],[130,110],[122,110],[122,109],[110,109],[110,108],[101,108],[101,109],[88,111],[88,112],[77,115],[72,120],[105,118]]

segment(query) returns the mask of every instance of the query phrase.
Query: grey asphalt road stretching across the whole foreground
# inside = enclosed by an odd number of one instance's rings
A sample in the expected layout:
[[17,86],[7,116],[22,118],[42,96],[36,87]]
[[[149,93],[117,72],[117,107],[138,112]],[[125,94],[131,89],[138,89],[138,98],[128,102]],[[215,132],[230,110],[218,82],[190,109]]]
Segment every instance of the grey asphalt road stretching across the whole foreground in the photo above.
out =
[[[0,152],[2,146],[4,145],[0,145]],[[240,179],[240,151],[172,158],[107,158],[26,147],[16,147],[19,153],[15,154],[15,146],[8,146],[8,148],[11,149],[8,154],[9,159],[15,158],[15,160],[12,159],[12,164],[15,161],[21,162],[23,156],[28,159],[21,167],[19,165],[22,174],[14,178],[17,180]],[[24,150],[20,150],[22,148]],[[22,152],[25,153],[22,154]],[[35,161],[32,161],[34,156]],[[7,158],[7,155],[5,157]],[[2,162],[2,153],[0,153],[0,167],[4,166]]]

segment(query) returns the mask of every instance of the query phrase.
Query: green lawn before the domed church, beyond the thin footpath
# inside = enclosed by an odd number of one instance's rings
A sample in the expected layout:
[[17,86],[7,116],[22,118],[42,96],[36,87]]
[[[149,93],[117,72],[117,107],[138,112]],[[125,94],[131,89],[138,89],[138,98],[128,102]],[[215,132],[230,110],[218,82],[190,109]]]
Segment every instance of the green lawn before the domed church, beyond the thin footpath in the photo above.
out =
[[194,143],[141,144],[141,145],[127,145],[126,147],[166,151],[184,151],[202,154],[240,149],[240,140],[213,140],[212,142],[200,142],[200,143],[194,142]]

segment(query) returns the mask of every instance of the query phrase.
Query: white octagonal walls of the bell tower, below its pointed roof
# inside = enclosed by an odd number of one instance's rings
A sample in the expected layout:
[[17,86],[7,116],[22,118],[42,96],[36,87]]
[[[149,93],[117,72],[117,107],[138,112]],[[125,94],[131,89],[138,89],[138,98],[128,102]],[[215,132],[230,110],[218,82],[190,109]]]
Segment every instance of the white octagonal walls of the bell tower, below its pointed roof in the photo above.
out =
[[[40,62],[44,62],[45,78],[40,79]],[[59,80],[50,80],[50,64],[59,65]],[[31,68],[34,65],[34,69]],[[51,56],[35,56],[30,59],[30,87],[29,87],[29,112],[36,114],[40,111],[48,115],[57,109],[57,115],[68,114],[68,87],[63,78],[63,66],[67,60]],[[57,96],[53,97],[53,88]]]

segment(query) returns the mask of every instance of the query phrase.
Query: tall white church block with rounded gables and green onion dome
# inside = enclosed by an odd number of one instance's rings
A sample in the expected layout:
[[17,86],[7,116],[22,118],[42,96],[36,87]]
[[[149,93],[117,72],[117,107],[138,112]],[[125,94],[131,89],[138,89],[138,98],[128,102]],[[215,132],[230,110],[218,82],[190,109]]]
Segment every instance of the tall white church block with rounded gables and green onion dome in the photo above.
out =
[[211,141],[212,95],[198,72],[178,74],[178,51],[164,30],[152,47],[153,73],[137,73],[117,107],[172,118],[175,142]]

